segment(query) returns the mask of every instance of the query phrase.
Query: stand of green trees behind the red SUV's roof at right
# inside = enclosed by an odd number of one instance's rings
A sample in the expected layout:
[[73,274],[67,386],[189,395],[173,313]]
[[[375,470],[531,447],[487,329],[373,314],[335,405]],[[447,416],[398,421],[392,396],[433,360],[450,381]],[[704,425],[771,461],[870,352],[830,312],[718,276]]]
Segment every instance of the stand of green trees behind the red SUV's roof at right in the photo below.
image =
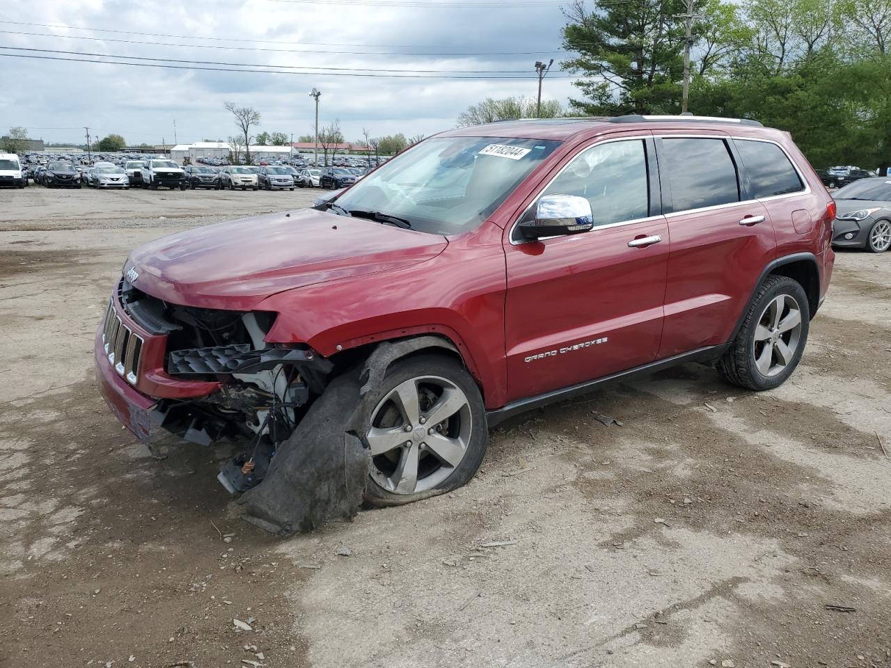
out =
[[[589,8],[590,5],[590,8]],[[683,0],[576,0],[574,109],[677,113]],[[789,131],[814,167],[891,165],[891,0],[696,0],[690,110]]]

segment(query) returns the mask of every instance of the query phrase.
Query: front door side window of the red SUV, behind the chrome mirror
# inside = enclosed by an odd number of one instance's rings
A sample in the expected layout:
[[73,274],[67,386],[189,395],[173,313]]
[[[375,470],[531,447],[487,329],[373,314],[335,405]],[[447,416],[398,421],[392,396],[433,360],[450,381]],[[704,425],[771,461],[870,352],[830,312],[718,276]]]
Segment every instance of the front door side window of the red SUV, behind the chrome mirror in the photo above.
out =
[[[594,225],[650,215],[647,154],[643,140],[595,144],[563,168],[542,195],[577,195],[591,202]],[[535,205],[523,220],[535,218]]]

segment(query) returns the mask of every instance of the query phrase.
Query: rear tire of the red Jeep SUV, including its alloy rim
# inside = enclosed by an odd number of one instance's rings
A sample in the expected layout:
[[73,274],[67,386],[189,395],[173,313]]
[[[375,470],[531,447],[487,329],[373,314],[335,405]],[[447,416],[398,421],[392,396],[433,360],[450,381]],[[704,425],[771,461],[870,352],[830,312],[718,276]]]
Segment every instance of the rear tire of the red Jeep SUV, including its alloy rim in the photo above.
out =
[[801,360],[810,320],[801,284],[787,276],[768,276],[740,332],[718,361],[718,373],[733,385],[759,392],[779,387]]

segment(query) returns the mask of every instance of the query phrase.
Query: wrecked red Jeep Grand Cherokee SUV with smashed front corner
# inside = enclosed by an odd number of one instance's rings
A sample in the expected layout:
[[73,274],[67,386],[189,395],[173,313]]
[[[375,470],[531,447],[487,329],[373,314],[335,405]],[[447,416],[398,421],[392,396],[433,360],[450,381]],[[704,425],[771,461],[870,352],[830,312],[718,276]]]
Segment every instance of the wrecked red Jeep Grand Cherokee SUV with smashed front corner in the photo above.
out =
[[465,127],[321,208],[135,249],[96,336],[102,395],[137,436],[249,452],[231,492],[382,347],[353,431],[377,505],[466,483],[488,428],[609,381],[698,362],[777,387],[834,259],[820,178],[750,120]]

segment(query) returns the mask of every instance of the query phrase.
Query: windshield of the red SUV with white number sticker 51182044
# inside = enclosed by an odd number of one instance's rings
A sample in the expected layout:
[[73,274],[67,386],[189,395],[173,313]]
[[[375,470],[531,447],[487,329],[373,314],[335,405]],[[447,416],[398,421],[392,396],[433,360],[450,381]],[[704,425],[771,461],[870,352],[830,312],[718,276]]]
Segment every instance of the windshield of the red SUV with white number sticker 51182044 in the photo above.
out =
[[413,229],[458,234],[486,220],[559,142],[506,137],[428,139],[344,192],[347,210],[405,218]]

